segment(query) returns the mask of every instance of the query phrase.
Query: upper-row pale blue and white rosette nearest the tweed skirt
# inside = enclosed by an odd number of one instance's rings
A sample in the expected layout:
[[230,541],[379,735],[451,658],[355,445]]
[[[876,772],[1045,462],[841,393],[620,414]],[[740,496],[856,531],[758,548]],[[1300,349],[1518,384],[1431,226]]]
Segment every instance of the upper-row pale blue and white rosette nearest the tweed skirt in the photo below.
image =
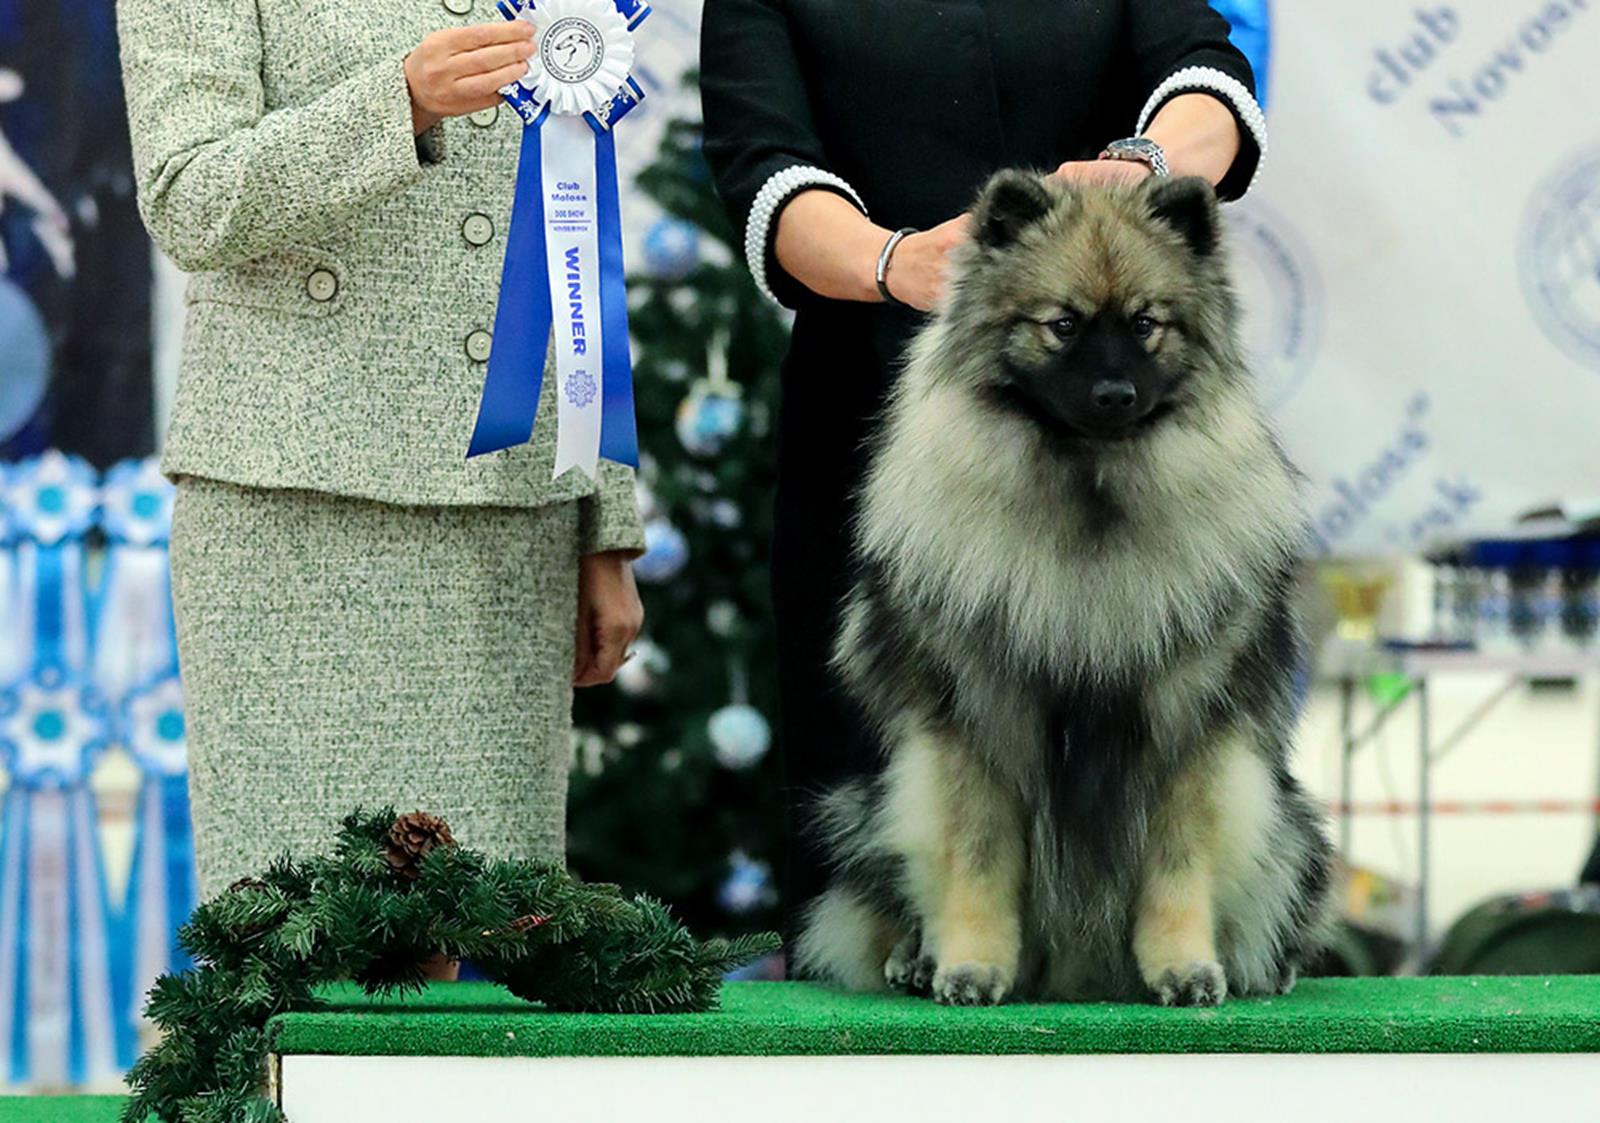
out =
[[176,672],[166,541],[173,485],[155,459],[123,461],[101,485],[106,565],[94,598],[94,685],[118,702],[136,685]]

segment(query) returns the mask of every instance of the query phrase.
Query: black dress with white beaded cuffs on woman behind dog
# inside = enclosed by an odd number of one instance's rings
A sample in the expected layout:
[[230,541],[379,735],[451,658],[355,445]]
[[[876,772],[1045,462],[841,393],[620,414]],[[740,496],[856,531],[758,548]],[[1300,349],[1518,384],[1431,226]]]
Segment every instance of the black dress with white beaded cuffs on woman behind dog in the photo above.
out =
[[[877,752],[827,657],[862,442],[918,317],[822,299],[784,275],[773,256],[782,203],[822,187],[890,230],[928,229],[966,210],[994,171],[1094,158],[1190,91],[1238,117],[1227,198],[1250,184],[1264,126],[1250,64],[1206,0],[706,0],[702,21],[706,157],[752,272],[797,310],[773,542],[795,840],[803,803]],[[786,865],[794,910],[822,870],[794,841]]]

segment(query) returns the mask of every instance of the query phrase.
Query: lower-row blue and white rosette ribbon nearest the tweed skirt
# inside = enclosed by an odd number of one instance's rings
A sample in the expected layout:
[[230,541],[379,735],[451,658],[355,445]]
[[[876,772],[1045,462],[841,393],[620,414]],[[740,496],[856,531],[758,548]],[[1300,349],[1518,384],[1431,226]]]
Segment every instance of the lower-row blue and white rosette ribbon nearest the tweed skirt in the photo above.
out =
[[162,675],[130,693],[118,717],[118,736],[142,776],[125,912],[126,982],[118,993],[123,1016],[136,1024],[157,977],[192,966],[178,945],[178,928],[198,904],[184,689],[178,675]]

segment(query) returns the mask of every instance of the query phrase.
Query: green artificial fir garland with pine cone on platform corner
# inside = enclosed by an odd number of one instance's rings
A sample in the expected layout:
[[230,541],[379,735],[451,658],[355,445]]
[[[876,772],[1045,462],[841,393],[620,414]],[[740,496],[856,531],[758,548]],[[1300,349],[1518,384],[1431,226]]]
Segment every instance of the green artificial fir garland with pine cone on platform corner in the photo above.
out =
[[267,1019],[314,987],[419,989],[438,957],[470,960],[549,1009],[690,1013],[773,934],[698,941],[659,902],[557,865],[491,861],[432,816],[355,811],[333,857],[280,859],[200,905],[179,933],[198,965],[150,990],[165,1038],[128,1073],[123,1123],[283,1123],[262,1094]]

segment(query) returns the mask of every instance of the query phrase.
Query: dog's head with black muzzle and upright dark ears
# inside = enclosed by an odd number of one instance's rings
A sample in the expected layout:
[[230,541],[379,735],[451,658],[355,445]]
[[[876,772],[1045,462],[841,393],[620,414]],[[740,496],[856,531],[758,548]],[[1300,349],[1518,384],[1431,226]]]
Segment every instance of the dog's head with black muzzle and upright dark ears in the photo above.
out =
[[1202,350],[1232,334],[1219,234],[1202,179],[1075,189],[1002,173],[946,310],[987,350],[973,389],[1075,450],[1152,432],[1205,395],[1216,363]]

